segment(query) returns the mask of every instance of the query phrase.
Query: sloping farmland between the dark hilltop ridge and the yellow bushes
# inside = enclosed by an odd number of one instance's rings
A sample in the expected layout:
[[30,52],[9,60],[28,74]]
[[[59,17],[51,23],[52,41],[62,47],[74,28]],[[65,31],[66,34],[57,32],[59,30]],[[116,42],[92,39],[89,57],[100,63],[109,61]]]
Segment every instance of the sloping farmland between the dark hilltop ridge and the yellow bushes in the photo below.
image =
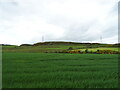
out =
[[112,50],[119,51],[118,47],[113,47],[112,45],[104,45],[104,44],[66,44],[55,43],[51,45],[50,43],[39,44],[37,46],[3,46],[3,52],[26,52],[26,53],[55,53],[61,52],[63,50],[67,50],[72,47],[73,50],[81,50],[85,51],[88,49],[89,51],[97,51],[97,50]]

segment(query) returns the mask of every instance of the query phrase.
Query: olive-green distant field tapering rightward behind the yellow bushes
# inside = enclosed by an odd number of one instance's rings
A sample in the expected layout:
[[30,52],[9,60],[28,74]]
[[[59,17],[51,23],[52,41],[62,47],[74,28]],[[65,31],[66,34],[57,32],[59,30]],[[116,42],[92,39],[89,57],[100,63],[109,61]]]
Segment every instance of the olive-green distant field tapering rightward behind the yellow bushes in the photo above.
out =
[[77,45],[41,45],[41,46],[3,46],[3,52],[55,52],[55,51],[63,51],[68,49],[69,47],[73,48],[81,48],[85,46],[77,46]]

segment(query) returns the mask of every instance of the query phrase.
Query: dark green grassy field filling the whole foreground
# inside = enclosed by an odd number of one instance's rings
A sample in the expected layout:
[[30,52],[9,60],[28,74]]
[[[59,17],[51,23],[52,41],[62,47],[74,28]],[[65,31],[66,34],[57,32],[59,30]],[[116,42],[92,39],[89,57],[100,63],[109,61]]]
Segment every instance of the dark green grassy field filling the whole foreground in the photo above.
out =
[[3,88],[118,87],[118,55],[6,52]]

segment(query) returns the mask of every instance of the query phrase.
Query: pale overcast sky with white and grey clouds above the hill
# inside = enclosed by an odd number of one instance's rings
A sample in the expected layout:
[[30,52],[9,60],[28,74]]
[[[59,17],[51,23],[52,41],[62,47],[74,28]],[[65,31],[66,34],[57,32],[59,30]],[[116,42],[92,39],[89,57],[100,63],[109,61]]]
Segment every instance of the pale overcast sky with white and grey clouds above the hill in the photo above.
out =
[[0,44],[118,43],[118,1],[0,0]]

